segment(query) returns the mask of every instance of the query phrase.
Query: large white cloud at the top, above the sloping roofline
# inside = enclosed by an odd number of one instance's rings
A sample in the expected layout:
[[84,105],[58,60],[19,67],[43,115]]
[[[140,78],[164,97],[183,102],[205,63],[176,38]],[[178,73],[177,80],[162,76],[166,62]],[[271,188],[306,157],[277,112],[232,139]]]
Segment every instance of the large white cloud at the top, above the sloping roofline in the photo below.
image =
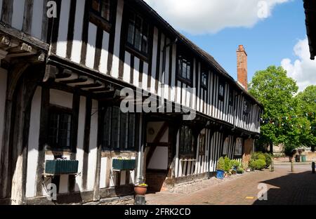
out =
[[277,4],[289,0],[145,0],[176,29],[216,33],[225,27],[253,27]]

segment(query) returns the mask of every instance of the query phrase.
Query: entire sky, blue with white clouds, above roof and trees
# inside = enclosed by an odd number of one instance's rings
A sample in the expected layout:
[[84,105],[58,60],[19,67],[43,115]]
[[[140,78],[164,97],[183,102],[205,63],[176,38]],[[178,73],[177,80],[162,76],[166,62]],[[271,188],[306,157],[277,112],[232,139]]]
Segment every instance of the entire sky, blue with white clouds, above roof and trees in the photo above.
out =
[[[237,79],[236,50],[248,53],[248,80],[270,65],[282,66],[299,91],[316,85],[303,0],[145,0]],[[260,16],[265,6],[265,16]]]

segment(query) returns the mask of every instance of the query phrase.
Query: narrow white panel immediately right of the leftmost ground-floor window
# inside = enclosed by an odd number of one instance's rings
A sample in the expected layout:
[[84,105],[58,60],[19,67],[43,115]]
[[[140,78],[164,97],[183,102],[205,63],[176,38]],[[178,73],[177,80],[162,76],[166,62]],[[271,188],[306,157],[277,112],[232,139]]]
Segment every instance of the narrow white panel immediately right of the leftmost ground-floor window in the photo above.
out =
[[[84,166],[84,127],[86,120],[86,98],[80,97],[79,118],[78,118],[78,136],[77,136],[77,156],[79,161],[78,172],[82,173]],[[82,174],[76,177],[75,191],[82,191]]]

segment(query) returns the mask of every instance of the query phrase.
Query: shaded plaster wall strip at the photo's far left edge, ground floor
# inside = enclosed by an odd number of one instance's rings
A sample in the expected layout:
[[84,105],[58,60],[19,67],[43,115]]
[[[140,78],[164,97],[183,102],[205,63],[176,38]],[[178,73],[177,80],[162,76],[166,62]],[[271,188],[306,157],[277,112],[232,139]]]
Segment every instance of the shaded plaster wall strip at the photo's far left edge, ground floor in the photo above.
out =
[[[2,137],[4,135],[4,111],[6,107],[6,79],[7,72],[0,68],[0,154],[2,150]],[[1,161],[1,156],[0,156]]]

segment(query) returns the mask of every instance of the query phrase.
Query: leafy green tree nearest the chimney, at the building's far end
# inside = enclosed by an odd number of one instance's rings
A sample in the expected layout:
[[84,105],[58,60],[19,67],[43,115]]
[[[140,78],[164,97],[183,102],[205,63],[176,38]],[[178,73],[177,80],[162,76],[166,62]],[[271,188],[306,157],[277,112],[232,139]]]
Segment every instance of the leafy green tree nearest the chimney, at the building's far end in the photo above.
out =
[[279,144],[290,141],[299,145],[297,126],[284,126],[284,117],[298,112],[296,81],[287,77],[282,67],[270,66],[258,71],[249,84],[249,92],[264,106],[263,118],[274,120],[261,126],[261,144]]

